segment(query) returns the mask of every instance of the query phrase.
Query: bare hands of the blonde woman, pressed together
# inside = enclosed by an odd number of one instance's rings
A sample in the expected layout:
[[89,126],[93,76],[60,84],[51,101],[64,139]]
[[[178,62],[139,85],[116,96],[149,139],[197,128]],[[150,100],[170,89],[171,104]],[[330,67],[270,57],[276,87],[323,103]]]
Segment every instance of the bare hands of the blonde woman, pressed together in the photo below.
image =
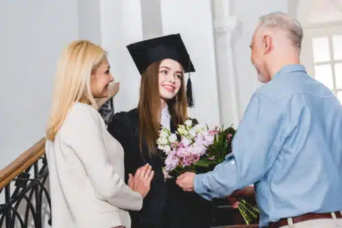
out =
[[150,182],[153,179],[153,175],[155,175],[155,172],[152,170],[152,167],[146,164],[137,169],[134,176],[129,173],[128,186],[135,192],[140,193],[142,197],[145,197],[150,190]]

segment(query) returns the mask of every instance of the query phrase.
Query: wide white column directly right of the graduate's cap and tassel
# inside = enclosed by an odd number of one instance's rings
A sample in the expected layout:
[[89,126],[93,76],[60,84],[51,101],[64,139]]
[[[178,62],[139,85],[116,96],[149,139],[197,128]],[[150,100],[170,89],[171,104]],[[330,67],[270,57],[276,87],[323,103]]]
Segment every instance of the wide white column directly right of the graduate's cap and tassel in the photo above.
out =
[[194,63],[191,74],[195,109],[190,115],[202,124],[220,124],[218,84],[215,68],[211,1],[161,0],[163,35],[181,33]]

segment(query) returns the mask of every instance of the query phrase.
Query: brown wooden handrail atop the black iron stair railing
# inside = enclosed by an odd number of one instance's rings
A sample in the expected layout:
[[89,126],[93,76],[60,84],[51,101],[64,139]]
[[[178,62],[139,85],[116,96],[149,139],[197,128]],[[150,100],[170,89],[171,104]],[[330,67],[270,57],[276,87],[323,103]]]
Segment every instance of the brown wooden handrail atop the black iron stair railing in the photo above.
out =
[[45,138],[18,156],[7,167],[0,170],[0,189],[10,183],[17,175],[34,164],[45,153]]

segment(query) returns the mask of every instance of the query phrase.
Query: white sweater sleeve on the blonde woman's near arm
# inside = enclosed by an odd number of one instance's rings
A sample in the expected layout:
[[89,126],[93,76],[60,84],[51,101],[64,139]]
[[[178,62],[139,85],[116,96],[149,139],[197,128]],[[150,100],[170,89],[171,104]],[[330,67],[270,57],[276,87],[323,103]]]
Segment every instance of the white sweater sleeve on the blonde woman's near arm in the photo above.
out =
[[124,210],[140,210],[142,196],[131,190],[109,163],[101,120],[91,106],[75,105],[65,128],[66,145],[83,164],[98,199]]

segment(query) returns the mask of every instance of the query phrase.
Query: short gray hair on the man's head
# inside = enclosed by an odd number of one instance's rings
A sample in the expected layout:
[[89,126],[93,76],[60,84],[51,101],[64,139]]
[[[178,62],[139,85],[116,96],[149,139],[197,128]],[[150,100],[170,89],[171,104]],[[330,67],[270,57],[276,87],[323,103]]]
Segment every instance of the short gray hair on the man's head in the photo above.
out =
[[299,21],[283,12],[272,12],[265,14],[259,18],[259,27],[279,27],[288,32],[288,38],[293,45],[300,49],[302,48],[303,29]]

